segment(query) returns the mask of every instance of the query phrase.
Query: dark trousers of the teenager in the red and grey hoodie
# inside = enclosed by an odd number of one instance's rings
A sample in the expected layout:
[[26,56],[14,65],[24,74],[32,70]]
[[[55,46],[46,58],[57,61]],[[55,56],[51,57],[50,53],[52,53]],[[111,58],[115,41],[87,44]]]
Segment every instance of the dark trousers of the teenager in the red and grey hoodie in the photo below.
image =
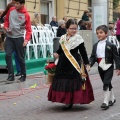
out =
[[6,37],[5,41],[5,52],[6,52],[6,63],[8,67],[9,76],[14,76],[14,69],[12,63],[12,53],[16,51],[18,59],[20,61],[21,75],[26,76],[25,66],[25,47],[23,47],[24,38],[10,38]]

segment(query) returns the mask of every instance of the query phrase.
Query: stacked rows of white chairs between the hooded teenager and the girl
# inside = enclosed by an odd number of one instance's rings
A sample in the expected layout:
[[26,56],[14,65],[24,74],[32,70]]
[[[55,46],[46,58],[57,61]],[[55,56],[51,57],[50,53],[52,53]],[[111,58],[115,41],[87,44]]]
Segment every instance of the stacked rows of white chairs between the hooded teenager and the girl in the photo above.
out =
[[27,44],[26,54],[30,60],[32,56],[35,59],[39,57],[53,57],[53,39],[54,32],[48,27],[32,26],[31,40]]

